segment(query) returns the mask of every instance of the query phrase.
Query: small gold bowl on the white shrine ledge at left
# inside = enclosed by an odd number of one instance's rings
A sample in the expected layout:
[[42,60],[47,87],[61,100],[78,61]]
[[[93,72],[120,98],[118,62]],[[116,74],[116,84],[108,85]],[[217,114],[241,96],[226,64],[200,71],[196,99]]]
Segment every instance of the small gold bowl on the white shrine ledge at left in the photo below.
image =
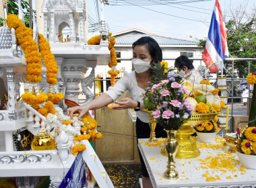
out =
[[50,135],[36,135],[31,143],[31,150],[53,150],[55,147],[55,140]]

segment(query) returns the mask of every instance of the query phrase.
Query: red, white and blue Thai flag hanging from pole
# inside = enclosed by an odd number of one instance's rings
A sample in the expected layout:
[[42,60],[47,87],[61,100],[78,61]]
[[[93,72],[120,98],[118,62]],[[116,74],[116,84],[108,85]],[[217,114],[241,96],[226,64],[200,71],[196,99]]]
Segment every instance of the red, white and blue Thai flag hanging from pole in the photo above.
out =
[[211,73],[218,71],[218,68],[220,68],[223,73],[223,61],[228,57],[227,39],[228,37],[226,35],[222,11],[220,10],[220,3],[216,0],[208,38],[202,56],[206,66],[214,64],[209,67]]

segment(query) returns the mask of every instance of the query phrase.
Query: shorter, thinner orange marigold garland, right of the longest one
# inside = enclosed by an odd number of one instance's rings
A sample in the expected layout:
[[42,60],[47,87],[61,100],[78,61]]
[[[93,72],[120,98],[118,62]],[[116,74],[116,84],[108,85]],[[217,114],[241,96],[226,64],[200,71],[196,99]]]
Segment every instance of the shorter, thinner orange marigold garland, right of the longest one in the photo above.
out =
[[51,47],[49,42],[46,41],[42,34],[38,35],[39,50],[42,55],[42,60],[46,66],[47,72],[47,83],[49,83],[49,89],[47,91],[48,100],[57,104],[59,101],[64,99],[65,95],[59,93],[57,87],[55,86],[57,81],[58,65],[55,61],[55,56],[51,52]]

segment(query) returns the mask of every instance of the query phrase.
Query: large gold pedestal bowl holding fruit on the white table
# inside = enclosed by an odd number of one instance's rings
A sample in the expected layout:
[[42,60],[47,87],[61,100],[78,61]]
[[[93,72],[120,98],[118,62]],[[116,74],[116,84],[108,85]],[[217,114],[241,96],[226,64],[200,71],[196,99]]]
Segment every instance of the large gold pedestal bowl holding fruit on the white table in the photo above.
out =
[[[192,138],[191,134],[195,133],[195,126],[200,122],[214,120],[217,113],[194,113],[189,120],[181,126],[176,134],[176,139],[179,142],[179,149],[176,158],[195,158],[200,155],[197,148],[196,140]],[[161,149],[161,154],[166,156],[165,148]]]

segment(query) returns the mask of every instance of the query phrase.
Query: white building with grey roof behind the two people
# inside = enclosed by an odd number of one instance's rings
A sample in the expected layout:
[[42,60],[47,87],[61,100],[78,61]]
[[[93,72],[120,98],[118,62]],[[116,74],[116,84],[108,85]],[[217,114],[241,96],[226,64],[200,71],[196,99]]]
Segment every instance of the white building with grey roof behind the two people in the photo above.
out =
[[[185,55],[189,58],[201,58],[203,52],[203,48],[197,46],[197,43],[194,41],[159,36],[150,32],[138,30],[136,28],[113,34],[113,36],[116,38],[115,52],[118,58],[131,58],[133,56],[133,51],[131,48],[133,42],[143,36],[150,36],[154,38],[156,42],[158,42],[160,48],[162,48],[163,59],[168,59],[166,61],[168,62],[169,66],[174,66],[174,59],[178,56]],[[117,64],[117,69],[121,72],[117,76],[117,79],[123,77],[124,72],[129,73],[132,71],[133,67],[131,60],[118,60],[117,62],[119,62]],[[195,69],[199,71],[200,61],[194,60],[193,64]],[[97,67],[96,76],[98,76],[99,79],[108,79],[108,77],[110,77],[107,74],[108,70],[108,66]],[[106,88],[102,87],[102,92],[106,91],[110,85],[110,81],[108,82],[109,83],[106,83]]]

